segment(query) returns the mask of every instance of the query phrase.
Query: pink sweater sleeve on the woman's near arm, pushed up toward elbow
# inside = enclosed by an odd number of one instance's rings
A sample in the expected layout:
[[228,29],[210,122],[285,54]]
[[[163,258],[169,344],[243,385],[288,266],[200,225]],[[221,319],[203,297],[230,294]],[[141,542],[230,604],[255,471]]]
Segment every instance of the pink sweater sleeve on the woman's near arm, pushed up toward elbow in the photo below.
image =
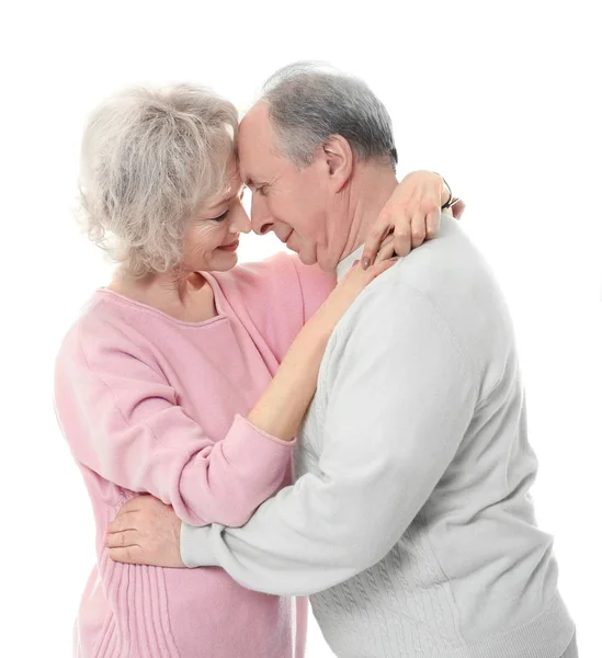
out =
[[55,405],[76,460],[118,487],[152,494],[195,525],[245,523],[282,486],[293,442],[241,416],[214,441],[152,359],[102,329],[98,340],[72,331],[57,360]]

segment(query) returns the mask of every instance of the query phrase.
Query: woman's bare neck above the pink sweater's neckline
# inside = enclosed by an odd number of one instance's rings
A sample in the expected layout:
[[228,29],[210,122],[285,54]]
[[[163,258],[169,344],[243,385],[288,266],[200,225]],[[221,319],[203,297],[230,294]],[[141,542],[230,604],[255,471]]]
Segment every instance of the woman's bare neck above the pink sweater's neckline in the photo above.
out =
[[202,322],[217,315],[213,290],[200,272],[135,279],[117,270],[107,288],[185,322]]

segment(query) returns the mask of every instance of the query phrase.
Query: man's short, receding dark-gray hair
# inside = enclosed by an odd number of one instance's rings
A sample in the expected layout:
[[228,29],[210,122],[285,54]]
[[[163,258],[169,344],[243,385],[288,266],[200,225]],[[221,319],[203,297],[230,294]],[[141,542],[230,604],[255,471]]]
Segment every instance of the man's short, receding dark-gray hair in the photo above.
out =
[[298,61],[269,78],[261,100],[269,104],[279,149],[297,167],[310,164],[318,146],[340,135],[360,160],[380,159],[395,171],[390,116],[362,80]]

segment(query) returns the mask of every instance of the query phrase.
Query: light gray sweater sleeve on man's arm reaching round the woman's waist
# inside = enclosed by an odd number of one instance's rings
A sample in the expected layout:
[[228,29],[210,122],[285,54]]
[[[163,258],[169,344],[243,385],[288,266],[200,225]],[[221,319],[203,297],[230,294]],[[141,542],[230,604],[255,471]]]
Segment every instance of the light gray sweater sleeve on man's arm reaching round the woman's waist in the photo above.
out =
[[477,386],[431,303],[399,282],[387,285],[395,290],[366,291],[327,354],[316,473],[241,529],[184,523],[188,566],[219,565],[263,592],[310,594],[371,567],[399,541],[466,433]]

